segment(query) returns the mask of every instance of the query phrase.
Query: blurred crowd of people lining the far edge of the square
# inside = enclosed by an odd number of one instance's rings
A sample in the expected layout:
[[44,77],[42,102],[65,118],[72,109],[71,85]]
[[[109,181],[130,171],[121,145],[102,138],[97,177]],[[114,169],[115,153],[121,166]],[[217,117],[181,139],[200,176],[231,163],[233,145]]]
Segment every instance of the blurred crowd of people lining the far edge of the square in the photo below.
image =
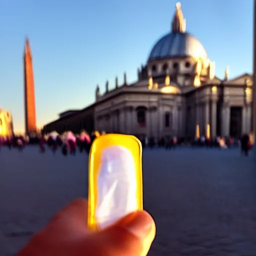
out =
[[[13,137],[0,137],[0,146],[6,145],[9,148],[17,147],[18,150],[22,151],[28,143],[39,144],[40,152],[45,152],[46,145],[47,148],[52,150],[53,153],[57,149],[61,148],[63,155],[68,153],[71,155],[76,154],[76,149],[80,152],[89,153],[90,146],[95,137],[105,134],[104,131],[99,133],[99,131],[93,131],[90,135],[82,130],[80,134],[74,134],[71,131],[65,131],[62,134],[59,134],[56,131],[52,131],[48,134],[44,134],[40,137],[29,139],[28,136],[13,136]],[[241,139],[234,139],[232,137],[216,137],[216,138],[207,138],[207,137],[198,137],[194,140],[185,140],[184,138],[173,137],[161,137],[160,139],[155,139],[154,137],[147,138],[144,136],[140,138],[142,147],[163,147],[165,149],[175,149],[178,145],[187,145],[191,147],[219,147],[219,148],[230,148],[240,146],[241,153],[248,155],[249,150],[252,148],[252,141],[248,134],[244,134]]]

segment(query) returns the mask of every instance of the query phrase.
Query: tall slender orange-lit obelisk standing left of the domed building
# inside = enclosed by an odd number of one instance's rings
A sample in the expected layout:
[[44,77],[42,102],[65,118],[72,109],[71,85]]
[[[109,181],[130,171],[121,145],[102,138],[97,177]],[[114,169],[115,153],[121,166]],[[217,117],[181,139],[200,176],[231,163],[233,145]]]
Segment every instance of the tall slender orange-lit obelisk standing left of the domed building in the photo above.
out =
[[36,114],[34,97],[34,77],[32,65],[32,53],[28,39],[24,50],[24,105],[25,105],[25,133],[30,135],[36,132]]

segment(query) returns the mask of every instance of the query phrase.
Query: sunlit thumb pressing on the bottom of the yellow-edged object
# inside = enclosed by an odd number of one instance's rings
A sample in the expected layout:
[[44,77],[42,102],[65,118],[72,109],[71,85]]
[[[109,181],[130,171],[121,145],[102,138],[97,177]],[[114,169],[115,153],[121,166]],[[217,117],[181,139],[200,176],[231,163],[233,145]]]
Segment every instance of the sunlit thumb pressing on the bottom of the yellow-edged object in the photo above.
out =
[[155,223],[146,211],[137,211],[91,234],[88,255],[145,256],[155,237]]

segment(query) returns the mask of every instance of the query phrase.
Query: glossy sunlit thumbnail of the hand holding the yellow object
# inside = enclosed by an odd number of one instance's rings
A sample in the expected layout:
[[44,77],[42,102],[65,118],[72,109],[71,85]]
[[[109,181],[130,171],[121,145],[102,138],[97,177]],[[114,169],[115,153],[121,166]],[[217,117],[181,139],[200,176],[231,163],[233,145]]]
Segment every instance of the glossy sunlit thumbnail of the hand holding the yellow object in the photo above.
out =
[[146,211],[137,211],[123,227],[135,236],[145,238],[149,235],[152,225],[153,219]]

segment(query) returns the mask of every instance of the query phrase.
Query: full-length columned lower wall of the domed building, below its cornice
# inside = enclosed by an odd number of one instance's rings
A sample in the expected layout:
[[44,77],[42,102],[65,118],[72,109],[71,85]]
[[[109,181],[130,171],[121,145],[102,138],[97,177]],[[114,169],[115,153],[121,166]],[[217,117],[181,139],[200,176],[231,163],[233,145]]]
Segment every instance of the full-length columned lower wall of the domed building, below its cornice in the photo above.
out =
[[[71,116],[52,122],[44,127],[43,132],[56,130],[61,133],[71,130],[74,133],[79,133],[81,129],[88,132],[96,129],[155,138],[174,135],[194,138],[196,125],[200,127],[200,136],[205,136],[206,126],[210,124],[211,137],[229,136],[230,109],[234,106],[231,103],[226,102],[219,106],[217,99],[211,97],[208,100],[192,103],[188,106],[185,102],[180,105],[155,102],[155,104],[149,106],[146,106],[146,104],[145,106],[129,105],[110,111],[104,109],[97,112],[95,109],[87,116]],[[241,133],[249,133],[251,131],[251,103],[238,106],[242,109]],[[139,117],[138,112],[140,112]],[[166,122],[166,119],[168,119],[168,122]]]

